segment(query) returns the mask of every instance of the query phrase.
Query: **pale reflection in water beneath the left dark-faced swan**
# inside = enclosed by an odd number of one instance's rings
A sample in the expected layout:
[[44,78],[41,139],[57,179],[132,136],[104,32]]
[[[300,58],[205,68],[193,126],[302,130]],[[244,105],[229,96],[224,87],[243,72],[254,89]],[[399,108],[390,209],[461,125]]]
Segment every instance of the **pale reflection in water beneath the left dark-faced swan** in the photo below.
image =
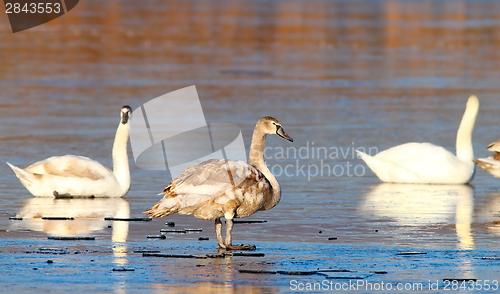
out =
[[[128,218],[130,205],[122,198],[55,199],[35,197],[28,199],[17,217],[22,222],[14,225],[49,236],[85,236],[110,225],[105,217]],[[74,218],[74,220],[43,220],[42,218]],[[113,242],[125,242],[128,222],[113,222]]]

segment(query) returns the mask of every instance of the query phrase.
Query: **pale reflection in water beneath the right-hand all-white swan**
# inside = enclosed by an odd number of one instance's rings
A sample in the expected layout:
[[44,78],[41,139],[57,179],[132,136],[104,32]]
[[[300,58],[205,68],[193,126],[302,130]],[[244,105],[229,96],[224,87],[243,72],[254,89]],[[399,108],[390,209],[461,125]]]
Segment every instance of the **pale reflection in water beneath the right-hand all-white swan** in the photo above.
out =
[[458,248],[474,249],[473,195],[474,189],[468,185],[384,183],[367,193],[360,210],[403,226],[440,225],[446,229],[454,225]]

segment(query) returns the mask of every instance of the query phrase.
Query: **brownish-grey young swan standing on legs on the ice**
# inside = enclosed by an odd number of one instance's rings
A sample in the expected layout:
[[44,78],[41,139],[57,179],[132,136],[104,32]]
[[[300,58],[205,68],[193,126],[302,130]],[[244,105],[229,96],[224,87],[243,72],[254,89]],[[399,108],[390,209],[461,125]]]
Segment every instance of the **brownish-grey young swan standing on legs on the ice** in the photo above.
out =
[[[267,134],[293,142],[275,118],[263,117],[255,125],[248,163],[211,159],[187,168],[163,190],[163,199],[144,213],[151,218],[179,213],[215,219],[220,248],[255,249],[255,245],[232,245],[231,232],[233,218],[271,209],[280,201],[280,185],[263,157]],[[221,217],[226,218],[225,242]]]

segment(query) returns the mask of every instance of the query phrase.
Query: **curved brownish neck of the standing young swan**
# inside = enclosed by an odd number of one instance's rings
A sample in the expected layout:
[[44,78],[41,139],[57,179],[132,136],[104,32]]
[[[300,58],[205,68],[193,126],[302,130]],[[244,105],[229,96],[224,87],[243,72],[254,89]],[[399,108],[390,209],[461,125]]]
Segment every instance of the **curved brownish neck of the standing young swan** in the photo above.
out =
[[270,203],[266,204],[264,209],[271,209],[278,204],[281,199],[281,188],[276,177],[271,173],[264,161],[264,146],[266,145],[266,134],[255,126],[250,144],[250,155],[248,163],[256,167],[268,180],[273,187],[273,197]]

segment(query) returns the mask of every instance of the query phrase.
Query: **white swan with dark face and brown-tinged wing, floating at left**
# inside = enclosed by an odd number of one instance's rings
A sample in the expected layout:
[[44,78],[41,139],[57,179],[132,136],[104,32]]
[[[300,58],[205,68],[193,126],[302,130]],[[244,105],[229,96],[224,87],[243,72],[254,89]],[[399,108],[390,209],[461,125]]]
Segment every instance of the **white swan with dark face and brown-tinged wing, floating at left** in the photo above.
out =
[[127,156],[130,106],[123,106],[113,144],[113,171],[83,156],[54,156],[21,169],[7,162],[36,197],[122,197],[130,188]]

